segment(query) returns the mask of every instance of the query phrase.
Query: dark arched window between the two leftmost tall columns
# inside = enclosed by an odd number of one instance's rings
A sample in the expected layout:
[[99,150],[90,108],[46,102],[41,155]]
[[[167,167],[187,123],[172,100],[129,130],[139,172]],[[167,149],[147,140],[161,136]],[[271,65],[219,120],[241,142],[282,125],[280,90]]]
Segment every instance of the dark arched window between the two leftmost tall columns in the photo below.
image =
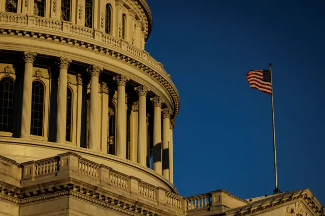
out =
[[30,134],[43,136],[44,85],[32,82]]

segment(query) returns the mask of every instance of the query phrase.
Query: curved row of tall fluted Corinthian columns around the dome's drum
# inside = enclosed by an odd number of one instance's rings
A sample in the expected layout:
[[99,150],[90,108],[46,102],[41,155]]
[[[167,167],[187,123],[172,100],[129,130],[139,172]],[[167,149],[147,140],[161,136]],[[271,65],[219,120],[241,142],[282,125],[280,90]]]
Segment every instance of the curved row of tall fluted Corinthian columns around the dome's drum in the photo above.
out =
[[[31,89],[32,89],[32,68],[36,58],[36,53],[24,52],[25,71],[23,80],[22,95],[22,116],[21,116],[21,138],[30,137],[30,119],[31,119]],[[66,142],[66,120],[67,120],[67,76],[71,59],[60,57],[58,60],[59,81],[57,90],[57,129],[56,142]],[[89,141],[88,148],[92,151],[101,151],[101,134],[98,130],[100,120],[99,103],[99,77],[103,68],[91,65],[87,69],[90,75],[90,113],[89,113]],[[124,75],[118,75],[113,78],[117,84],[117,121],[116,121],[116,156],[126,159],[126,104],[125,104],[125,86],[128,78]],[[147,166],[148,157],[148,139],[147,139],[147,108],[146,100],[150,89],[144,85],[135,87],[138,93],[139,101],[135,102],[138,111],[137,125],[137,147],[136,154],[133,153],[131,160],[141,166]],[[163,175],[173,182],[173,128],[174,121],[171,120],[172,110],[164,108],[164,100],[155,96],[150,98],[153,103],[153,170]],[[135,107],[133,107],[134,109]],[[161,128],[161,119],[163,119],[163,128]],[[163,133],[162,133],[163,132]]]

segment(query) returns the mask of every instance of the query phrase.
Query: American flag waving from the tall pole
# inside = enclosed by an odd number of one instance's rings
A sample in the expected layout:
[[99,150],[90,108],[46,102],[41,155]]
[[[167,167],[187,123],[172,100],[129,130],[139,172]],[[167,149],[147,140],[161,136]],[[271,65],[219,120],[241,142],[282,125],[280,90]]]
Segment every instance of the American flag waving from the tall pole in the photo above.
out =
[[249,70],[246,79],[251,88],[272,94],[270,70]]

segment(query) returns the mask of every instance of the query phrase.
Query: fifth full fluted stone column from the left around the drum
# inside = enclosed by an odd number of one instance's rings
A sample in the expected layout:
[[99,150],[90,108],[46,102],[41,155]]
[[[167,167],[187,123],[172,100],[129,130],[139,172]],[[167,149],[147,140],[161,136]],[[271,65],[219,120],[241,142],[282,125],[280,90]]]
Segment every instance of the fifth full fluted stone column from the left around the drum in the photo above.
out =
[[139,124],[138,124],[138,163],[147,166],[147,111],[146,97],[149,89],[146,86],[135,87],[139,94]]

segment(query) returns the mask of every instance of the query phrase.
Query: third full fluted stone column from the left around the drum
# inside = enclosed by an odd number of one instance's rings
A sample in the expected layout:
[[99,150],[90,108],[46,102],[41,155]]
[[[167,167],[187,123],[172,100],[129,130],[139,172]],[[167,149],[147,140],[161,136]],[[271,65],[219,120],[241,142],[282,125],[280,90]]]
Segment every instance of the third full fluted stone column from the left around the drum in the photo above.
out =
[[99,113],[99,77],[103,68],[92,65],[87,70],[91,76],[90,81],[90,113],[89,113],[89,149],[100,151],[100,113]]

